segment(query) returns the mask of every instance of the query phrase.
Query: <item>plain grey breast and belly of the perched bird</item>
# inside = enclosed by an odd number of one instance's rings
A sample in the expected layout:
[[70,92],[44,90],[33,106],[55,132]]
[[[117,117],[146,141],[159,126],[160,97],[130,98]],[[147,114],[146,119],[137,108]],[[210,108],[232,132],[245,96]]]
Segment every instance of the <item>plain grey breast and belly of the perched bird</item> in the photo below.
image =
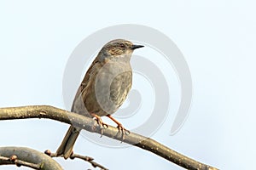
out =
[[103,65],[95,80],[95,97],[99,105],[96,114],[106,116],[119,109],[131,89],[132,71],[127,62],[109,62]]

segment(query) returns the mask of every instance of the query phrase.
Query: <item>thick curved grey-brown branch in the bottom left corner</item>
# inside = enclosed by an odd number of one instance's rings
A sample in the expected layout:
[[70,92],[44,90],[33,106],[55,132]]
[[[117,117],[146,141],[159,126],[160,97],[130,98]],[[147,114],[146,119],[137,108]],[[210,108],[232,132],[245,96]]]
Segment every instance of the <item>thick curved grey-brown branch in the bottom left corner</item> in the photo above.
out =
[[15,164],[34,169],[61,170],[62,167],[50,156],[25,147],[0,147],[0,165]]

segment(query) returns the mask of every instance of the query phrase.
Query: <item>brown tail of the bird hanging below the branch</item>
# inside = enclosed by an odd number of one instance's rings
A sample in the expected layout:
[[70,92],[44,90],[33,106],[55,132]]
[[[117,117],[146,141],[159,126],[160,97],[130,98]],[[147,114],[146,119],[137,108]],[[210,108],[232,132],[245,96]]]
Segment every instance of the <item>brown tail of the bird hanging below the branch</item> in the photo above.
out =
[[57,156],[63,155],[65,159],[71,156],[73,151],[73,144],[79,136],[81,129],[78,127],[70,126],[67,130],[67,133],[64,139],[61,142],[60,147],[56,151]]

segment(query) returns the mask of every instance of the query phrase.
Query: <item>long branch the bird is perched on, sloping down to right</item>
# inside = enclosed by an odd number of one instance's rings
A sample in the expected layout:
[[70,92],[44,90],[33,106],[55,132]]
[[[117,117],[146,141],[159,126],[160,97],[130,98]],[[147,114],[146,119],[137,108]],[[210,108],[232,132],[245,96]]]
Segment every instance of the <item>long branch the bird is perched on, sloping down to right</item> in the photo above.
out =
[[[59,122],[66,122],[73,124],[73,126],[81,127],[92,133],[102,133],[102,129],[97,125],[96,121],[79,114],[64,111],[49,105],[33,105],[33,106],[22,106],[22,107],[9,107],[0,109],[0,120],[10,119],[26,119],[26,118],[49,118]],[[72,123],[70,122],[72,119]],[[217,168],[208,166],[199,161],[195,161],[188,156],[183,156],[174,150],[166,147],[163,144],[139,135],[137,133],[130,133],[122,139],[119,129],[116,127],[108,126],[104,129],[104,136],[108,136],[112,139],[123,141],[127,144],[133,144],[143,150],[148,150],[154,154],[165,158],[168,161],[172,161],[181,167],[187,169],[209,169],[216,170]]]

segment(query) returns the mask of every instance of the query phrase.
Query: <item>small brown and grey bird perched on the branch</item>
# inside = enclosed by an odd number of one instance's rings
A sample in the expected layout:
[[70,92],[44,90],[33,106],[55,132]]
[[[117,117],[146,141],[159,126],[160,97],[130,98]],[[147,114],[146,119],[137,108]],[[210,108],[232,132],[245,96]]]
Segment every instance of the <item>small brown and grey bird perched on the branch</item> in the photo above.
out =
[[[117,124],[119,130],[126,130],[113,118],[112,114],[124,103],[131,89],[132,70],[131,54],[143,45],[136,45],[125,39],[114,39],[106,43],[90,65],[73,99],[71,111],[96,119],[102,127],[101,116],[108,116]],[[72,156],[73,145],[81,128],[71,125],[61,145],[56,151],[57,156],[65,159]]]

